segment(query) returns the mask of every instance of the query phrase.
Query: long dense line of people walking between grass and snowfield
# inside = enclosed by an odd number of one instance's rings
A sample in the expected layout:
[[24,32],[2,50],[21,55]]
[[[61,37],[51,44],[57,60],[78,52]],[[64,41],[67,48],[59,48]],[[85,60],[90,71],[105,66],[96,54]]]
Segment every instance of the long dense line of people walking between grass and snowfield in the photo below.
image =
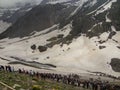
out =
[[[5,70],[8,72],[14,72],[14,67],[8,66],[2,66],[0,65],[0,70]],[[77,87],[83,87],[84,89],[90,89],[90,90],[120,90],[120,86],[118,85],[111,85],[108,81],[102,82],[101,79],[94,80],[82,80],[79,78],[79,75],[77,74],[69,74],[69,75],[61,75],[61,74],[55,74],[55,73],[39,73],[34,72],[33,70],[24,70],[24,69],[18,69],[19,74],[27,74],[32,77],[37,77],[40,79],[49,79],[54,80],[56,82],[62,82],[64,84],[77,86]],[[109,76],[111,78],[115,78],[114,76],[103,74],[105,76]]]

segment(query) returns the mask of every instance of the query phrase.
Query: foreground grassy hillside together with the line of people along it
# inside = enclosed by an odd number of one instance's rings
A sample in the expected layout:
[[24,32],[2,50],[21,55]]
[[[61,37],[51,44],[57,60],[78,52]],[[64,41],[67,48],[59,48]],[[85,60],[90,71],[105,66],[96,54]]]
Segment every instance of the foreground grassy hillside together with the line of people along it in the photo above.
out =
[[[1,90],[91,90],[107,88],[120,89],[120,80],[106,76],[93,78],[81,77],[76,74],[40,73],[19,69],[18,71],[3,70],[0,67]],[[85,79],[83,79],[85,78]],[[88,78],[88,79],[87,79]],[[115,80],[114,80],[115,79]],[[106,81],[107,82],[106,82]],[[5,89],[8,88],[8,89]]]

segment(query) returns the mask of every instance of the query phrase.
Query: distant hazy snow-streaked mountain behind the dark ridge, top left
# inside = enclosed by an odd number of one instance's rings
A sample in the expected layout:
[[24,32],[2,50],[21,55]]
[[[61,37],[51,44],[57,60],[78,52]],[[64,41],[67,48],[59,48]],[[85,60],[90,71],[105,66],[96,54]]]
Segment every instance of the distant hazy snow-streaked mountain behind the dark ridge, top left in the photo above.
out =
[[26,3],[21,5],[17,3],[15,7],[0,8],[0,33],[5,31],[9,26],[17,21],[26,12],[30,11],[36,4]]

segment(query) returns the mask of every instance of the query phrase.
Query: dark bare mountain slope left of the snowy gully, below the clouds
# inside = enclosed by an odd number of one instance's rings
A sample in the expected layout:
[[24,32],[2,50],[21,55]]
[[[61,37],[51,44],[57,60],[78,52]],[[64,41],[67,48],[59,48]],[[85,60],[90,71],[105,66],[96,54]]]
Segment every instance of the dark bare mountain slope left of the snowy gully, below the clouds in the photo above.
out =
[[[65,13],[68,9],[64,8],[65,6],[60,4],[37,6],[25,16],[21,17],[13,26],[8,28],[8,30],[1,35],[3,37],[7,35],[9,37],[24,37],[26,35],[30,35],[33,31],[41,31],[54,24],[58,24],[60,19],[67,17],[71,12],[68,11]],[[64,17],[60,17],[63,14]]]

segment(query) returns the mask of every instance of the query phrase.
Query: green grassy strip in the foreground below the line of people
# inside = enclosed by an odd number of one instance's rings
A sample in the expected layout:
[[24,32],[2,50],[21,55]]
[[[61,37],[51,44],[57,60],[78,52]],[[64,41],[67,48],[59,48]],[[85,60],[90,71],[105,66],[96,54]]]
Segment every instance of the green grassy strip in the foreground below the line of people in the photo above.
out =
[[18,72],[0,71],[0,77],[1,82],[14,87],[15,90],[87,90],[51,80],[41,80]]

